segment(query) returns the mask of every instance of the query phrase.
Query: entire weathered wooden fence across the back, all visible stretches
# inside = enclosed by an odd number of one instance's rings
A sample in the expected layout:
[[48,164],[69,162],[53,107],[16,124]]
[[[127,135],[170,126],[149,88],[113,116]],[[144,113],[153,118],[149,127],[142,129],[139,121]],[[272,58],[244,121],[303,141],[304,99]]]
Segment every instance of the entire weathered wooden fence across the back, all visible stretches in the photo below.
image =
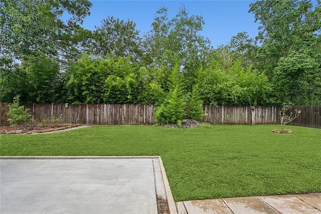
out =
[[[31,110],[33,121],[52,119],[63,123],[97,125],[153,125],[154,105],[131,104],[25,104]],[[8,126],[9,103],[0,105],[0,126]],[[293,106],[301,115],[289,125],[321,128],[321,105]],[[205,117],[201,122],[209,124],[279,124],[277,106],[204,105]]]

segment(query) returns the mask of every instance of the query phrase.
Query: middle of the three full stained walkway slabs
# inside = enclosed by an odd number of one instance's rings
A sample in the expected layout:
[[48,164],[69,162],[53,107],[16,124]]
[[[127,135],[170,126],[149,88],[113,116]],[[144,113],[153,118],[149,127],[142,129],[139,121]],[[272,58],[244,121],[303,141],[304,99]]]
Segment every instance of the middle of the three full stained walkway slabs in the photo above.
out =
[[266,213],[276,214],[271,206],[262,201],[259,197],[234,197],[234,198],[223,198],[226,205],[233,211],[233,213]]

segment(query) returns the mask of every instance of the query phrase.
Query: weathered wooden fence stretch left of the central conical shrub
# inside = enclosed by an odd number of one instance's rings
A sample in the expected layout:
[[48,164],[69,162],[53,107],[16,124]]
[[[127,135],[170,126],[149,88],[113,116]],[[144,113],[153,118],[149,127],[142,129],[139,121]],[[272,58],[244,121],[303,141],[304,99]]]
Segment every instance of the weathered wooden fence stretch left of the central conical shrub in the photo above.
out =
[[[52,119],[71,124],[152,125],[154,105],[130,104],[24,104],[30,109],[33,121]],[[1,104],[1,124],[8,126],[9,103]]]

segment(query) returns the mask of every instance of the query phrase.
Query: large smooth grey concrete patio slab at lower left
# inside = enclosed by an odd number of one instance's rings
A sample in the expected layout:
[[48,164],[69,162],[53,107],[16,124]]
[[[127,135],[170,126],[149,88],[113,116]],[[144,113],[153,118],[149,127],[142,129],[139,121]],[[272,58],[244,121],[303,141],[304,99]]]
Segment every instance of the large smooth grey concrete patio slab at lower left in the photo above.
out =
[[153,158],[51,158],[1,158],[1,213],[157,213],[156,189],[169,197]]

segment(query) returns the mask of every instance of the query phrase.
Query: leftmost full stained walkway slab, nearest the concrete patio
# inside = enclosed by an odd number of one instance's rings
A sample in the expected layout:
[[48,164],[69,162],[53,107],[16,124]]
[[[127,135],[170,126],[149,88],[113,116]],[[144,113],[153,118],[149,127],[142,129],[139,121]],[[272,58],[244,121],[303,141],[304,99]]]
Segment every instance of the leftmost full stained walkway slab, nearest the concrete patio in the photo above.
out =
[[222,199],[183,201],[187,213],[222,213],[233,214]]

